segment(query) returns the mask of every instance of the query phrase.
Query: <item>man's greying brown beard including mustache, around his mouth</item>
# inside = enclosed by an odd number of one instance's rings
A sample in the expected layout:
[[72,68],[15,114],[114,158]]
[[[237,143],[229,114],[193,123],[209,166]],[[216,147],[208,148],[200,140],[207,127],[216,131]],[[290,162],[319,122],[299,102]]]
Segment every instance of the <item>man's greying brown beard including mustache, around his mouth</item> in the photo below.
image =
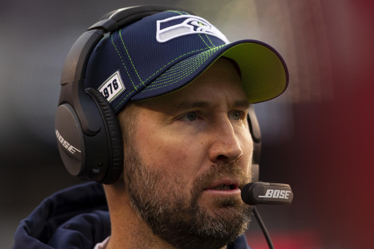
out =
[[147,167],[134,149],[128,150],[125,177],[130,204],[154,235],[176,248],[213,249],[233,242],[248,228],[252,207],[240,196],[209,198],[206,207],[199,205],[203,189],[218,178],[238,178],[240,189],[250,181],[237,163],[211,165],[188,190],[181,175]]

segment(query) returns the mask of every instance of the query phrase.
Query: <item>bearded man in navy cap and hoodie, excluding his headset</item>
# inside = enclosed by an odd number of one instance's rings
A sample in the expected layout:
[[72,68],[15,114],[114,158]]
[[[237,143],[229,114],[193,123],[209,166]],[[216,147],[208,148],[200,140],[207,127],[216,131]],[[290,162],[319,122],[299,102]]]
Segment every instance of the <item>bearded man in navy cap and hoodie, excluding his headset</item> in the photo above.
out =
[[117,113],[123,172],[103,185],[107,205],[98,184],[46,199],[14,248],[248,248],[251,207],[240,189],[251,181],[249,103],[287,83],[272,47],[229,43],[183,11],[113,32],[92,52],[85,87]]

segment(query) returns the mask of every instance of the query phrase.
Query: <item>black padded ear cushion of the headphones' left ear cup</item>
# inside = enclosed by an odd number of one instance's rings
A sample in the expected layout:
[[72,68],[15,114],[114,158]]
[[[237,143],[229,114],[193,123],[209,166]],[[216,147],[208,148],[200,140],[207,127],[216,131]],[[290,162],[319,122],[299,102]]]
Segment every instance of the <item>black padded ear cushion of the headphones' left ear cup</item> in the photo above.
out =
[[111,150],[111,162],[108,166],[107,176],[100,183],[115,183],[122,172],[123,167],[123,142],[121,128],[116,114],[110,103],[95,88],[87,88],[86,93],[95,101],[101,112],[104,124],[106,124],[107,136],[110,140],[109,148]]

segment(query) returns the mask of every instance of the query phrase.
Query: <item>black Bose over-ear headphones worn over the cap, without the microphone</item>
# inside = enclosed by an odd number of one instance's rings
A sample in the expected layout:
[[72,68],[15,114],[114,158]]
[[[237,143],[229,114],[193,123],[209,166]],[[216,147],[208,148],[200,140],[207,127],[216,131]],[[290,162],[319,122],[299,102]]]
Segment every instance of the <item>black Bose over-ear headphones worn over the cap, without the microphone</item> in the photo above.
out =
[[[196,15],[189,10],[168,6],[134,6],[113,10],[89,27],[70,49],[62,68],[55,133],[62,162],[75,178],[112,184],[120,177],[123,167],[122,134],[117,116],[98,90],[84,88],[86,68],[93,49],[104,34],[165,10],[181,10]],[[252,182],[256,182],[261,133],[252,105],[248,123],[254,141]]]

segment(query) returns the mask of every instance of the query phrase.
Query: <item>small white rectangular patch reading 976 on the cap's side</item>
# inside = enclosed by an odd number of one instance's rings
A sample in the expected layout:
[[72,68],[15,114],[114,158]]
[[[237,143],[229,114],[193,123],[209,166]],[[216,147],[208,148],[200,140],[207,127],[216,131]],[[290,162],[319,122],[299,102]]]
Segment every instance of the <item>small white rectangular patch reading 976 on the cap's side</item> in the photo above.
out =
[[119,71],[112,74],[104,83],[98,88],[99,92],[112,103],[126,87],[123,85]]

